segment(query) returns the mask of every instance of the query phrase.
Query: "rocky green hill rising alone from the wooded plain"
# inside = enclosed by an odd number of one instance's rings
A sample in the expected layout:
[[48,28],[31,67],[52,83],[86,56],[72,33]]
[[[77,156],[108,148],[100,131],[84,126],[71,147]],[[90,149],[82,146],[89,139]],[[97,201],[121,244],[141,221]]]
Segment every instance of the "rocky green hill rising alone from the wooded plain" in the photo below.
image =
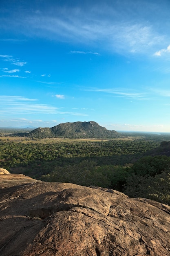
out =
[[37,128],[26,134],[26,137],[35,138],[115,138],[119,133],[107,130],[94,121],[58,124],[52,128]]

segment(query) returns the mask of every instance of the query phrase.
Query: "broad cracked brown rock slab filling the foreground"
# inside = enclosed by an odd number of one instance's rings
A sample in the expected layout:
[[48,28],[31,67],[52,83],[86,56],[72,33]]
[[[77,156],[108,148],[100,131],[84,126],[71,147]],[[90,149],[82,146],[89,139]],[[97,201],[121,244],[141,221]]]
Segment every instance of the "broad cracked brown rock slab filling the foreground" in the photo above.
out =
[[167,256],[170,207],[123,193],[0,175],[1,256]]

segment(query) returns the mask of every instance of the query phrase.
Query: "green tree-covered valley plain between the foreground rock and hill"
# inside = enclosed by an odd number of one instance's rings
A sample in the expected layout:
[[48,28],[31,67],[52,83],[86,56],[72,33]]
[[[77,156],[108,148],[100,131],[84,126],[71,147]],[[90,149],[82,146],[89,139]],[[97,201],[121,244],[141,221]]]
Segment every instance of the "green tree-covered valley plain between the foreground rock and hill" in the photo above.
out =
[[25,137],[24,129],[3,129],[0,167],[37,180],[107,187],[170,204],[170,145],[163,142],[170,134],[118,134],[112,139],[36,138]]

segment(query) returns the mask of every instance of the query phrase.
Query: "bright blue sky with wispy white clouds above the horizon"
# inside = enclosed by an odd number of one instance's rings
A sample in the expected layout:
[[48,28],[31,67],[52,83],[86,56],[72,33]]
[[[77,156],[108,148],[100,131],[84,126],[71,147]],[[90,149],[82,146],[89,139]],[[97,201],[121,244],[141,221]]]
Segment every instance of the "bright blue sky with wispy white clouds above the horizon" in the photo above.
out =
[[0,127],[170,132],[169,0],[1,0]]

